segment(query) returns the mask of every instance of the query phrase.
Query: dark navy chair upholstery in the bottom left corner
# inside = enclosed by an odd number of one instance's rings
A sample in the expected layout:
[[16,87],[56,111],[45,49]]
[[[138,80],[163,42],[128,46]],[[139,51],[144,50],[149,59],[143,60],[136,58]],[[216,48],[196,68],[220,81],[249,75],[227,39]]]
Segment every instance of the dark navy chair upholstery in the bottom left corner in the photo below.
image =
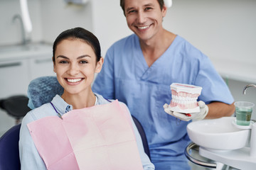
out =
[[18,152],[18,140],[21,124],[14,125],[0,137],[0,169],[21,169]]

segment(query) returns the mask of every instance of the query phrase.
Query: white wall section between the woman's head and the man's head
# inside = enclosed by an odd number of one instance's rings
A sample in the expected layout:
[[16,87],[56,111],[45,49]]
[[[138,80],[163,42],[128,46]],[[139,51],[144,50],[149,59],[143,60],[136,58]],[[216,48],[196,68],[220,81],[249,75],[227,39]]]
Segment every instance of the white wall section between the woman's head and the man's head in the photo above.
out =
[[119,6],[119,0],[92,1],[93,30],[99,38],[102,56],[115,41],[132,34],[127,27],[126,19]]

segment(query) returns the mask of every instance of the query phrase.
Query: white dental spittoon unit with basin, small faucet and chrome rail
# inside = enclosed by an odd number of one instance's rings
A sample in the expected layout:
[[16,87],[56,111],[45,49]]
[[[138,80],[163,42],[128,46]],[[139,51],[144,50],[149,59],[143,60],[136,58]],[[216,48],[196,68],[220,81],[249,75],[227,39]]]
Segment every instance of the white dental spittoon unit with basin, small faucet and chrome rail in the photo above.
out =
[[[245,91],[248,87],[255,86],[255,84],[248,84],[243,89],[242,93],[245,94]],[[225,120],[226,123],[221,125],[221,122]],[[201,120],[197,122],[192,122],[188,124],[188,136],[191,138],[192,142],[185,149],[186,157],[193,163],[207,166],[211,168],[216,168],[218,164],[202,162],[198,159],[194,159],[190,154],[190,149],[199,147],[199,154],[202,157],[212,159],[213,161],[223,163],[228,166],[233,166],[236,169],[250,170],[255,169],[256,166],[256,121],[251,120],[250,125],[242,126],[236,125],[234,117],[224,117],[220,119],[213,120]],[[191,126],[191,125],[195,126]],[[202,125],[202,127],[198,127]],[[194,127],[194,128],[193,128]],[[230,131],[225,132],[225,128],[230,127]],[[240,133],[248,137],[243,137]],[[200,135],[197,135],[200,134]],[[222,137],[238,137],[240,140],[230,140]],[[195,138],[196,137],[196,138]],[[210,138],[211,137],[211,138]],[[195,140],[196,139],[196,140]],[[203,142],[203,144],[196,144],[198,141]],[[246,142],[246,143],[245,143]],[[221,144],[220,144],[221,143]],[[242,145],[240,148],[235,148],[237,145]],[[245,145],[247,144],[247,145]],[[210,147],[213,145],[213,147]],[[228,145],[228,147],[224,147]],[[222,148],[218,148],[222,147]],[[218,167],[217,167],[218,168]]]

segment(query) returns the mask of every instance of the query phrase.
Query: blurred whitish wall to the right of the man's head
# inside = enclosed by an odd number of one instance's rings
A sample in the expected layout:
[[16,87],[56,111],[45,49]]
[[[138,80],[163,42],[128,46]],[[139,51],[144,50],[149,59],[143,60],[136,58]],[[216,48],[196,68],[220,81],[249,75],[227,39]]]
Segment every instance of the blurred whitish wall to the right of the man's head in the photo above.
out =
[[[173,0],[164,26],[211,59],[256,64],[255,0]],[[228,63],[227,63],[228,64]]]

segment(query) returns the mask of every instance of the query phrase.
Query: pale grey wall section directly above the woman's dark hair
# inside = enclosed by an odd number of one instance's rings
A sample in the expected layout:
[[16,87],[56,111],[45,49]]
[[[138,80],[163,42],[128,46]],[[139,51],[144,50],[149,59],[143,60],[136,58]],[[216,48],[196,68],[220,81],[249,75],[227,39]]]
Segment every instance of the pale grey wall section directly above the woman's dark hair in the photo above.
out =
[[64,0],[41,0],[43,40],[53,42],[63,31],[82,27],[92,30],[92,6],[68,5]]

